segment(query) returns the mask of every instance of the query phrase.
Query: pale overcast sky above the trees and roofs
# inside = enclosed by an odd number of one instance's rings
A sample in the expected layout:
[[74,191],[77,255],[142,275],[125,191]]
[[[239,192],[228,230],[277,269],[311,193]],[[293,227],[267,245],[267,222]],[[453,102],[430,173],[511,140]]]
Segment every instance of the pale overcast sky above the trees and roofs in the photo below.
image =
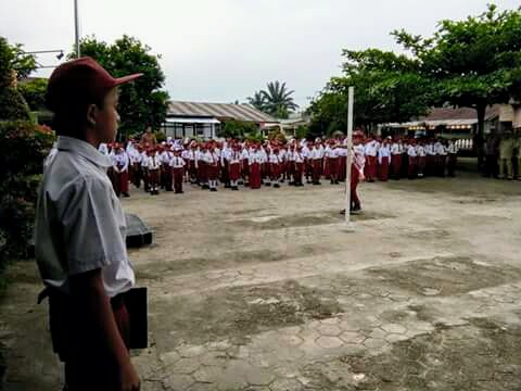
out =
[[[81,35],[135,36],[161,53],[176,100],[244,101],[267,81],[287,81],[300,105],[340,74],[341,50],[398,50],[389,33],[431,35],[490,0],[78,0]],[[73,0],[0,0],[0,35],[27,51],[74,42]],[[519,0],[500,0],[501,9]],[[53,55],[39,56],[45,65]],[[42,70],[39,75],[47,76]]]

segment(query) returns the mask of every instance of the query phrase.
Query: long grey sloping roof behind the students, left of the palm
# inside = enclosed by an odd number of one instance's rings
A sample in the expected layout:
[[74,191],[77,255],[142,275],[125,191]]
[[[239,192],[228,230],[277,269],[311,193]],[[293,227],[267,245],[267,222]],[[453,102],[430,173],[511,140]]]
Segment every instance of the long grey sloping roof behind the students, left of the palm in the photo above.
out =
[[167,116],[213,117],[219,121],[238,119],[254,123],[278,123],[272,116],[249,104],[170,102]]

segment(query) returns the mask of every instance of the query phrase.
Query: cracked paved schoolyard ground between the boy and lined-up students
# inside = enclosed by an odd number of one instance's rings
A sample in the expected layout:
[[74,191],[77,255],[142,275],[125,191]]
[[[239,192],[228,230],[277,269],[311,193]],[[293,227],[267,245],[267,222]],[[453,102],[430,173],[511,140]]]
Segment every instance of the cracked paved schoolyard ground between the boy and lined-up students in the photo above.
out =
[[[520,390],[521,182],[183,195],[132,191],[155,231],[131,251],[150,292],[143,390]],[[5,390],[59,390],[34,262],[0,304]]]

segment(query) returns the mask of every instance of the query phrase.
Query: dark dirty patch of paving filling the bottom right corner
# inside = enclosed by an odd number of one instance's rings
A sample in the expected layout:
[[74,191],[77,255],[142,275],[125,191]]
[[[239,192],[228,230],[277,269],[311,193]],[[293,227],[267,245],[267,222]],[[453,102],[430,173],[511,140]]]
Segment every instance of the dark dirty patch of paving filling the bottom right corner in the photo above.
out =
[[305,376],[316,389],[519,390],[521,328],[494,319],[436,329],[393,344],[380,355],[347,355]]

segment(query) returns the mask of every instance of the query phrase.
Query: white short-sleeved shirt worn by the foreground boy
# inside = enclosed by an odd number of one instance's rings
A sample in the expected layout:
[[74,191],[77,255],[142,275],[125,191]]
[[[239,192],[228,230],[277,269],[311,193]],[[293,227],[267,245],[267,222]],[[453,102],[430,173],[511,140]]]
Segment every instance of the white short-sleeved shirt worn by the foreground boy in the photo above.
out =
[[45,168],[35,224],[36,260],[47,286],[69,292],[68,277],[102,269],[110,298],[129,290],[126,220],[106,168],[111,159],[88,142],[60,136]]

